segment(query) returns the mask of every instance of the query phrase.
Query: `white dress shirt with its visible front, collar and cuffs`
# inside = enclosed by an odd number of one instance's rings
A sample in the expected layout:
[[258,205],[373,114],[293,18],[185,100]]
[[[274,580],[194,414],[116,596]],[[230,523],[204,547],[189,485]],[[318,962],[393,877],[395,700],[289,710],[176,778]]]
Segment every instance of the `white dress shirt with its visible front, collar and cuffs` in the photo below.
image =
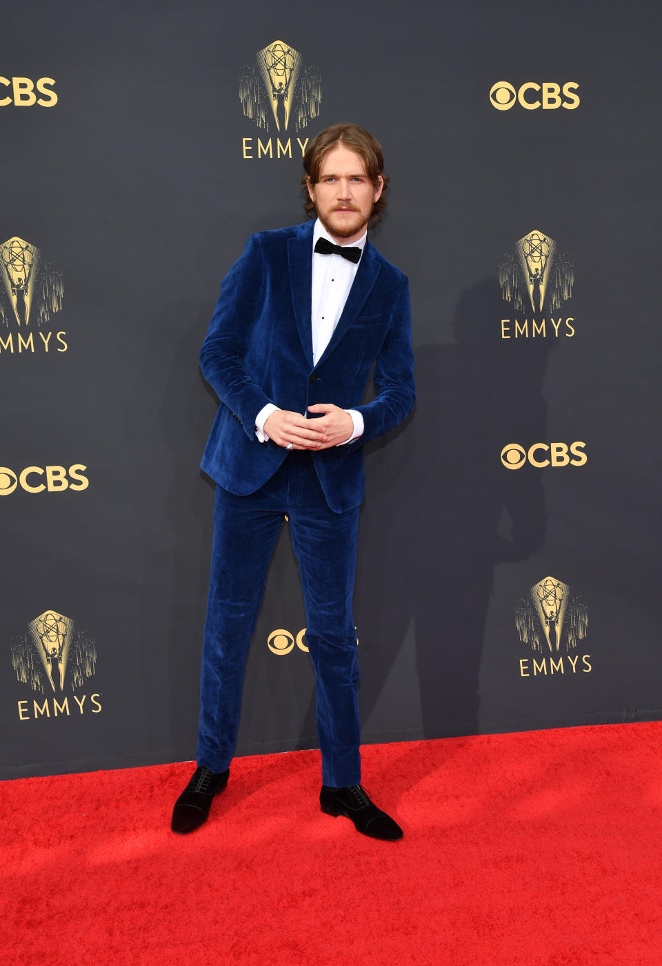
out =
[[[349,262],[342,255],[320,255],[315,250],[315,245],[319,238],[327,239],[333,244],[338,243],[324,230],[319,218],[317,218],[313,229],[313,288],[311,293],[314,366],[317,366],[317,362],[324,355],[324,350],[328,346],[331,336],[338,325],[340,317],[343,314],[343,309],[345,308],[345,301],[347,300],[354,276],[356,275],[356,270],[359,267],[358,262],[356,264]],[[368,233],[365,233],[358,241],[352,241],[350,247],[361,248],[363,250],[367,238]],[[330,402],[330,400],[326,401]],[[256,416],[255,432],[261,442],[266,442],[269,439],[264,432],[264,423],[271,413],[276,412],[278,409],[279,407],[274,406],[273,403],[267,403]],[[351,440],[356,440],[363,434],[363,416],[361,413],[356,410],[345,410],[345,412],[348,412],[351,416],[354,431],[349,439],[340,443],[340,445],[345,445],[347,442],[351,442]],[[306,414],[305,412],[303,413],[303,415]]]

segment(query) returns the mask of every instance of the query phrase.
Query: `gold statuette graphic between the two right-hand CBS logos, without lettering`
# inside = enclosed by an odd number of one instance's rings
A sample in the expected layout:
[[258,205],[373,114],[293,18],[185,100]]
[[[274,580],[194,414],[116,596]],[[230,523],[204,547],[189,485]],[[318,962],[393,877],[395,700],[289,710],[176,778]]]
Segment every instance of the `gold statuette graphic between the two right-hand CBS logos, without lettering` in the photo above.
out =
[[515,242],[514,252],[499,262],[502,297],[520,311],[530,306],[534,316],[544,306],[555,311],[572,296],[574,266],[568,255],[557,254],[557,244],[535,230]]

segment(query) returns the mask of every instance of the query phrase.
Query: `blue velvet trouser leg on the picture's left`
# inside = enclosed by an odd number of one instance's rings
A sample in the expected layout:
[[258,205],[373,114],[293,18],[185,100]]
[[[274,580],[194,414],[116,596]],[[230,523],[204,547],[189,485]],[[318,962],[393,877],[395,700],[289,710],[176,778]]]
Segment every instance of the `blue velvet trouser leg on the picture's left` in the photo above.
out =
[[236,744],[246,657],[283,510],[262,491],[234,497],[216,488],[203,641],[199,765],[229,767]]

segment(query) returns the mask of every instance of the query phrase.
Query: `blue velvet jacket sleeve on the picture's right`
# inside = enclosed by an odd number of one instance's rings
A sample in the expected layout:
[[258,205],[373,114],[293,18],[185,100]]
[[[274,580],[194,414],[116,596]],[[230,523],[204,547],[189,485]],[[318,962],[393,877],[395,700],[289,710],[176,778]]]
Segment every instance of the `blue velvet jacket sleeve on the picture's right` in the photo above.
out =
[[362,444],[388,433],[411,412],[416,401],[409,283],[406,278],[386,338],[374,361],[372,381],[377,390],[376,399],[367,406],[355,407],[363,416],[365,428],[360,439],[349,445]]

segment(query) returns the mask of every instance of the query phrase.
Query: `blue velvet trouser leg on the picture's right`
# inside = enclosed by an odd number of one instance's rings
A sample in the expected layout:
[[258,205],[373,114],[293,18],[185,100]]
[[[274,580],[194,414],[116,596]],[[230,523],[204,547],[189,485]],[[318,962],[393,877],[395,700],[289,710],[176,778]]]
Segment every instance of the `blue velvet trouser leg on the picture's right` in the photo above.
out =
[[315,668],[322,782],[358,784],[359,667],[352,598],[359,509],[333,513],[312,461],[302,466],[302,498],[290,500],[290,533],[306,606],[306,642]]

